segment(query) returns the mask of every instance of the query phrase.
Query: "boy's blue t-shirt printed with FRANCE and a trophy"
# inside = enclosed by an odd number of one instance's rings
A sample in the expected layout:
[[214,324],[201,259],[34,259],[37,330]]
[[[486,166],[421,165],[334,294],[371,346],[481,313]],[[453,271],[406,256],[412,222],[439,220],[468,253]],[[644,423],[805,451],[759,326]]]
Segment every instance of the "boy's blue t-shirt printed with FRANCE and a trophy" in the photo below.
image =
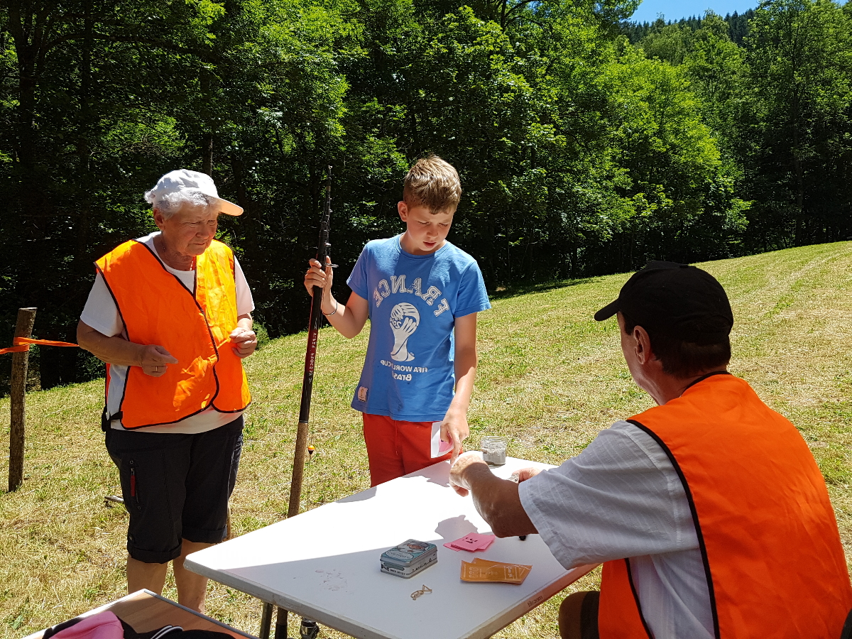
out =
[[444,418],[455,388],[457,317],[491,308],[473,257],[449,242],[429,255],[374,239],[347,280],[370,308],[370,343],[352,407],[406,422]]

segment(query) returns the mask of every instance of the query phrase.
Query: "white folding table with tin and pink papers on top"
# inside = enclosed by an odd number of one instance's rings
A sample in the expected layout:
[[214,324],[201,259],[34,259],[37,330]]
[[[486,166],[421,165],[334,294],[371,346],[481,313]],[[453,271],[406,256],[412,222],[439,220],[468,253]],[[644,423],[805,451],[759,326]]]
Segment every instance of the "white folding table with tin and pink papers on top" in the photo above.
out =
[[[508,458],[494,472],[508,478],[529,466],[550,468]],[[359,639],[483,639],[596,567],[565,570],[538,535],[497,539],[475,553],[445,548],[491,532],[473,500],[450,488],[449,469],[435,463],[193,553],[185,566]],[[382,552],[409,538],[438,544],[437,564],[411,579],[380,572]],[[461,562],[475,556],[533,570],[521,585],[463,582]],[[412,599],[423,585],[432,592]]]

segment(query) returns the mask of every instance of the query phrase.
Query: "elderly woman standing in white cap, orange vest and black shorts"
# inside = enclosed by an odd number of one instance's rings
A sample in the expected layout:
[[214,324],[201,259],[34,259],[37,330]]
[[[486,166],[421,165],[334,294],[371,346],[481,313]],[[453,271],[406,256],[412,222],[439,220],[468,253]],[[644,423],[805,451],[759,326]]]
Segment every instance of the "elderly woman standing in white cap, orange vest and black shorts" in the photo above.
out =
[[213,239],[220,213],[243,210],[190,170],[145,199],[159,231],[96,262],[77,337],[107,362],[102,427],[130,513],[128,590],[162,592],[172,561],[179,601],[203,612],[207,580],[183,560],[225,537],[250,402],[242,359],[257,346],[249,285]]

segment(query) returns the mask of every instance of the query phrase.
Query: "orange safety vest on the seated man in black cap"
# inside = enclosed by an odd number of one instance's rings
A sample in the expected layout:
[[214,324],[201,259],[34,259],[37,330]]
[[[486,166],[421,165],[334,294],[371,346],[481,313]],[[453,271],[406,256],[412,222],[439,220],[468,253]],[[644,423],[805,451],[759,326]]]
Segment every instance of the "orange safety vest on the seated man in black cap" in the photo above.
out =
[[[797,429],[744,380],[713,374],[628,420],[692,510],[717,639],[838,639],[852,586],[826,483]],[[630,560],[603,566],[601,639],[647,639]]]

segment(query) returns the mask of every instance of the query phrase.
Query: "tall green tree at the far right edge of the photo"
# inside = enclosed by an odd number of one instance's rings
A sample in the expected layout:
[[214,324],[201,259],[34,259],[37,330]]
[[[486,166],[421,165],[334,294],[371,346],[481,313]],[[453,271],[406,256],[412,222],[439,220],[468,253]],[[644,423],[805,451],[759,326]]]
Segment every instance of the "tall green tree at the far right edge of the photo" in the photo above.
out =
[[831,0],[772,0],[749,24],[751,87],[740,118],[752,246],[852,232],[852,31]]

